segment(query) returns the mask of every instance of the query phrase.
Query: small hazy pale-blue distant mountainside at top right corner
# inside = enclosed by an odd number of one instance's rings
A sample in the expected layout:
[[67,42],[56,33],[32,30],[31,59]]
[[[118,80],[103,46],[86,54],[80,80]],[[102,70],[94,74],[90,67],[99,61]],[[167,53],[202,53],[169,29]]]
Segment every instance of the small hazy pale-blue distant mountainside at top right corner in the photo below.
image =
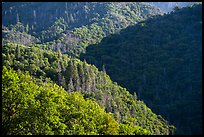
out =
[[148,2],[148,3],[160,8],[164,12],[170,12],[173,11],[175,6],[186,7],[196,2]]

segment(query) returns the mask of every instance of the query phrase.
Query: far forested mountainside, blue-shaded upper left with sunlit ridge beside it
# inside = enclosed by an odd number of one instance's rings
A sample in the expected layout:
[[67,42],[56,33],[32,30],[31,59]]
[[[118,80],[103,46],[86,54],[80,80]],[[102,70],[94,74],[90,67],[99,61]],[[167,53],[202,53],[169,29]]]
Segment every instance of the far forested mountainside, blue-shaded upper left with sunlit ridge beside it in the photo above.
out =
[[11,33],[35,36],[44,49],[79,56],[89,44],[158,14],[159,9],[141,2],[8,2],[2,24]]

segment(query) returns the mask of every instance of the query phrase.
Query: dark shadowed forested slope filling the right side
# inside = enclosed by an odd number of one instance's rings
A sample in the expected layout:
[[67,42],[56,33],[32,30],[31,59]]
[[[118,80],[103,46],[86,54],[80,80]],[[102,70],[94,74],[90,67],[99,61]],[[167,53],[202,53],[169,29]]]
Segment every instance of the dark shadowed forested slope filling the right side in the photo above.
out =
[[113,81],[178,134],[202,133],[202,5],[177,9],[128,27],[89,46],[81,59],[105,68]]

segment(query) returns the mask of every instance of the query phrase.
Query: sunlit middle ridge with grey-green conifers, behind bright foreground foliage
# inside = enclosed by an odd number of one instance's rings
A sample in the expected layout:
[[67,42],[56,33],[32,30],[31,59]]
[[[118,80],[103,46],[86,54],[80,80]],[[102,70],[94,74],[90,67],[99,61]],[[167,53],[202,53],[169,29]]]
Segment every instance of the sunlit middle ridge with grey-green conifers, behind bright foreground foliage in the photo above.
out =
[[[140,126],[151,134],[173,134],[174,127],[155,115],[136,95],[131,95],[112,82],[105,72],[98,71],[85,61],[68,58],[60,52],[11,43],[3,43],[2,51],[3,65],[14,70],[29,71],[41,81],[46,77],[51,78],[69,93],[82,93],[85,98],[98,102],[106,112],[111,112],[118,123]],[[123,128],[128,129],[127,126]],[[134,133],[130,131],[129,134]]]

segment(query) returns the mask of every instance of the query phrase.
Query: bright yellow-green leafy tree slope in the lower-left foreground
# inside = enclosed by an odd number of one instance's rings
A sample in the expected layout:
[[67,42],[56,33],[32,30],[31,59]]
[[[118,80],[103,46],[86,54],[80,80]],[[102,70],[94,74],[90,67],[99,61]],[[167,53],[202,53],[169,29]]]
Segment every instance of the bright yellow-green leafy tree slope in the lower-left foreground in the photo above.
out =
[[[144,135],[138,126],[118,124],[96,101],[67,93],[51,81],[3,67],[3,135]],[[130,130],[127,130],[128,127]]]

